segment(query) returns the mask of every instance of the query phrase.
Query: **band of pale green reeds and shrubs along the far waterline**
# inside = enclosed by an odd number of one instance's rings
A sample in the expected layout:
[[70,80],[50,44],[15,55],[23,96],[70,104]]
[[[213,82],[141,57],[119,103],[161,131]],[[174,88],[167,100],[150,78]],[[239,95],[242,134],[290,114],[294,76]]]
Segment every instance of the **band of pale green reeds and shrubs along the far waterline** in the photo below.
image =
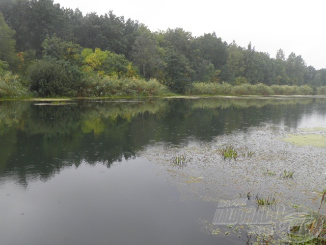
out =
[[[52,85],[51,89],[60,90],[60,83]],[[40,94],[46,94],[40,96]],[[58,94],[58,93],[56,93]],[[18,75],[11,72],[0,74],[0,99],[29,99],[32,97],[58,97],[51,95],[51,91],[31,91],[24,86]],[[290,86],[265,84],[241,84],[229,83],[192,83],[180,95],[325,95],[326,86],[312,87],[309,85]],[[116,77],[90,77],[83,79],[71,87],[65,87],[65,93],[61,97],[151,97],[176,95],[169,88],[152,79],[146,81],[140,78],[116,78]],[[59,96],[60,97],[60,96]]]

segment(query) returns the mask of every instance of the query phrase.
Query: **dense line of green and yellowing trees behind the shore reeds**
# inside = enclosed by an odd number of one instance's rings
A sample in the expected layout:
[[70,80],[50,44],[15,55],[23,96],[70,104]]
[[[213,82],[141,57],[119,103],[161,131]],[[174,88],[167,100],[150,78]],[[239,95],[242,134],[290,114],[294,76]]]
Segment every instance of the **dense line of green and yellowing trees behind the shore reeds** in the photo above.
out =
[[41,96],[69,95],[78,81],[107,77],[156,79],[178,93],[194,82],[326,85],[326,69],[301,55],[280,48],[270,57],[214,32],[152,32],[112,11],[84,15],[52,0],[0,0],[0,12],[0,71],[16,72]]

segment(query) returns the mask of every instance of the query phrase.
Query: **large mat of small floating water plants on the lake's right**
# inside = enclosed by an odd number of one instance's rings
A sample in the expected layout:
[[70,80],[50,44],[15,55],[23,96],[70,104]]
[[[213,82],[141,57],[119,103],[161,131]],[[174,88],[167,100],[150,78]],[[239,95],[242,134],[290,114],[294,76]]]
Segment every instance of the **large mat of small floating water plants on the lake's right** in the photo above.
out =
[[[262,125],[197,145],[156,145],[144,150],[142,156],[162,166],[159,174],[178,186],[183,200],[230,200],[250,191],[273,195],[285,206],[317,208],[318,204],[312,204],[312,192],[321,190],[325,182],[326,149],[282,141],[289,131],[295,130]],[[223,160],[218,149],[225,144],[246,147],[255,155]],[[177,154],[186,155],[187,165],[172,163]],[[280,177],[284,169],[293,170],[293,178]]]

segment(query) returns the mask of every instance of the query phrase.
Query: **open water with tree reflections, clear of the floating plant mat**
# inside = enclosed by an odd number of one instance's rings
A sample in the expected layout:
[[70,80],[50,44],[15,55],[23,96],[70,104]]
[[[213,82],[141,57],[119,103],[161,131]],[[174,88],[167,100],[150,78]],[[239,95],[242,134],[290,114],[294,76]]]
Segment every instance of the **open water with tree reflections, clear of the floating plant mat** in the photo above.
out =
[[241,244],[203,232],[199,219],[212,219],[216,204],[181,201],[141,151],[196,145],[261,124],[325,127],[325,102],[0,102],[0,244]]

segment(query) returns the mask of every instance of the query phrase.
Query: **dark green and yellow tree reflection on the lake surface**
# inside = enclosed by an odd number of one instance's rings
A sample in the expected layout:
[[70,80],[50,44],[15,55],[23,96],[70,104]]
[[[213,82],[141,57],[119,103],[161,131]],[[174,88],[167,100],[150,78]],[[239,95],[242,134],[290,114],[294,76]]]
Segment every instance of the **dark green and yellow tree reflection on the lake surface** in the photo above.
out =
[[[2,102],[0,171],[22,185],[48,180],[82,162],[105,164],[137,156],[153,142],[185,143],[189,136],[210,140],[268,120],[293,125],[309,110],[309,100],[197,99],[141,102],[77,101],[36,106]],[[317,101],[322,105],[324,101]],[[319,107],[318,107],[319,108]],[[324,107],[320,107],[324,113]],[[319,110],[318,109],[318,110]],[[300,111],[298,113],[297,111]]]

